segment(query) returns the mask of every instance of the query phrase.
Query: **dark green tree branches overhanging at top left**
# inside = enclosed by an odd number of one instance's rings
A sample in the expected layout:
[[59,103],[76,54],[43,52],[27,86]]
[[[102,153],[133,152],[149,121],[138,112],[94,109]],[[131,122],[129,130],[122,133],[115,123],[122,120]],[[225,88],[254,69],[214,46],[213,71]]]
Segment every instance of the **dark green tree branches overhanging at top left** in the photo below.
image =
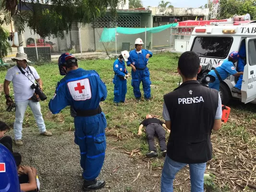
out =
[[[0,8],[10,12],[18,32],[24,31],[24,25],[33,29],[42,38],[46,36],[64,36],[72,24],[91,23],[102,16],[107,8],[115,14],[119,0],[0,0]],[[28,11],[20,11],[17,5]]]

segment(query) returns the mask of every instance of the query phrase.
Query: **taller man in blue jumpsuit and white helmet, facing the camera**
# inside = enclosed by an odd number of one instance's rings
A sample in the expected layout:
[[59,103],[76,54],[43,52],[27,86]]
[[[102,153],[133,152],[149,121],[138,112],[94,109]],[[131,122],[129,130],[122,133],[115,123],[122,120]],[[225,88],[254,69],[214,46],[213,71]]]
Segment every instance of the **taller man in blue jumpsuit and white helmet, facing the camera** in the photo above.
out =
[[148,59],[153,53],[142,48],[143,41],[140,38],[135,40],[135,49],[130,51],[130,57],[127,61],[127,66],[132,67],[132,86],[134,87],[134,96],[137,100],[141,98],[140,82],[142,81],[144,97],[146,100],[151,97],[150,89],[150,73],[147,68]]

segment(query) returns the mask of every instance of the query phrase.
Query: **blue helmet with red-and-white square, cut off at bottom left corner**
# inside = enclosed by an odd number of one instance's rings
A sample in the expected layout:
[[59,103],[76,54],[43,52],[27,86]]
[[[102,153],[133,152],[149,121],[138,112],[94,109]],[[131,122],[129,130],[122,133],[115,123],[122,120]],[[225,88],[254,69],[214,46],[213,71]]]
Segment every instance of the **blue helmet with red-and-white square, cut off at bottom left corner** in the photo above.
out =
[[21,192],[14,157],[2,144],[0,144],[0,192]]

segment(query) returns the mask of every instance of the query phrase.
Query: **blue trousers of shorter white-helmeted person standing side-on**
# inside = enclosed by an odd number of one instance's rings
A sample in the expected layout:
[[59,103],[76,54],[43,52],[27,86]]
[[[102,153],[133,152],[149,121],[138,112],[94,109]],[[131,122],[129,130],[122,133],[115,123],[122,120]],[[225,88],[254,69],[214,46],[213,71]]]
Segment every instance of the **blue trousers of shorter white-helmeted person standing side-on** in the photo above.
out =
[[115,75],[113,79],[114,85],[114,102],[124,102],[127,93],[127,80],[121,80],[119,76]]

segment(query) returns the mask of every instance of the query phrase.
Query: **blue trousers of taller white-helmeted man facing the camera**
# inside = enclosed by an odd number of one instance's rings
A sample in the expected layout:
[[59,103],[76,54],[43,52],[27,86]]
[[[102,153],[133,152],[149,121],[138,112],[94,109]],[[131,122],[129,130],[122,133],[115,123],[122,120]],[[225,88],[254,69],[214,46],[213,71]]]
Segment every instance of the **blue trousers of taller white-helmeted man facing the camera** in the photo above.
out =
[[140,83],[142,82],[144,97],[149,99],[151,97],[151,89],[150,89],[150,73],[148,68],[144,70],[137,70],[134,72],[132,70],[132,86],[134,87],[134,96],[136,98],[141,97],[140,92]]

